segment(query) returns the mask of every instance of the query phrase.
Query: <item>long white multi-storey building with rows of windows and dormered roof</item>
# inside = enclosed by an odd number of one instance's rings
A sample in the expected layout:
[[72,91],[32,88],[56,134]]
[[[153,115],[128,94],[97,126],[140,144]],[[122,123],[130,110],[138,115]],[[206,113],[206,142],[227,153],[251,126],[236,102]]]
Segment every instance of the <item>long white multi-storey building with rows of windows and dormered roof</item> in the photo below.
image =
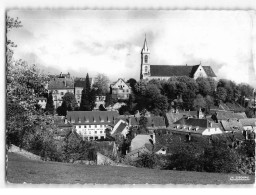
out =
[[73,124],[84,139],[98,140],[106,138],[106,129],[112,130],[117,116],[116,111],[72,111],[65,123]]

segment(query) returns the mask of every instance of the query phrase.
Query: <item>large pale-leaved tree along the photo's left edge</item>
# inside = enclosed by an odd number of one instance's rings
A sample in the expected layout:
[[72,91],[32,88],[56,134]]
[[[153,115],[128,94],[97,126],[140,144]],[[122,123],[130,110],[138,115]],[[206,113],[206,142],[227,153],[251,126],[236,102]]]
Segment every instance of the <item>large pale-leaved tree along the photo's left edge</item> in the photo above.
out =
[[[7,16],[6,33],[21,27],[18,19]],[[28,137],[34,136],[35,124],[42,124],[44,117],[35,117],[36,97],[45,91],[42,83],[46,81],[36,65],[13,58],[13,47],[17,47],[6,37],[6,143],[25,147]],[[43,127],[43,124],[42,124]]]

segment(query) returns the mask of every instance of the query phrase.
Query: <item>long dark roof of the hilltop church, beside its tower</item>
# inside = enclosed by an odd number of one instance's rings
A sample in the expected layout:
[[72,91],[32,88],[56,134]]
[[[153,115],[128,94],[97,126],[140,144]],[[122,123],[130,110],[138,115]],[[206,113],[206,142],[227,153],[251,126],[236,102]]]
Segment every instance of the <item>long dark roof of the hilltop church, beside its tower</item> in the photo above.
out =
[[[199,65],[150,65],[151,76],[170,77],[188,76],[193,77]],[[210,66],[202,66],[208,77],[216,77]]]

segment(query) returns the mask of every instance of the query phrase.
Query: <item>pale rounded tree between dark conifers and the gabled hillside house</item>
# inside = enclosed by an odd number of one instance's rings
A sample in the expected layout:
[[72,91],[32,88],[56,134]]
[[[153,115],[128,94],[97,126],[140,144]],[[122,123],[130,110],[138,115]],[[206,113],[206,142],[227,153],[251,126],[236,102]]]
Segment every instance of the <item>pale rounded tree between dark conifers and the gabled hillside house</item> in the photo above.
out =
[[93,87],[97,89],[97,95],[106,95],[109,89],[109,78],[105,74],[97,74]]

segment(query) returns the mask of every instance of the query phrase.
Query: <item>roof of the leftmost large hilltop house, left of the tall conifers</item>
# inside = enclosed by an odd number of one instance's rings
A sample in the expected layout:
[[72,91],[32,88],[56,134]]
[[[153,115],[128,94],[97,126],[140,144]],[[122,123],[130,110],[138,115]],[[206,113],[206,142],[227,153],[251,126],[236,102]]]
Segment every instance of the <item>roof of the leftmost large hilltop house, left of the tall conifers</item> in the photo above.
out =
[[68,78],[54,78],[49,81],[48,89],[72,89],[74,81]]

